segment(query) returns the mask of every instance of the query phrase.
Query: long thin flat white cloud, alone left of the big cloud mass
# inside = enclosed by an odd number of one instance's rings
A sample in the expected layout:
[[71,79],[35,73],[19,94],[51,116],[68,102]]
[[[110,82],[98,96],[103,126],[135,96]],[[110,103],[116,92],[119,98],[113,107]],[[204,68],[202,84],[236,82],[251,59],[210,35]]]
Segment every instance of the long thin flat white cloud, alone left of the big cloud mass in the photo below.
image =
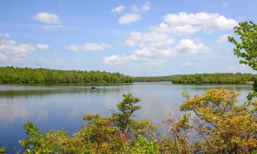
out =
[[82,45],[69,45],[64,47],[64,49],[68,49],[71,51],[79,52],[79,51],[103,51],[106,49],[110,49],[109,44],[105,43],[85,43]]

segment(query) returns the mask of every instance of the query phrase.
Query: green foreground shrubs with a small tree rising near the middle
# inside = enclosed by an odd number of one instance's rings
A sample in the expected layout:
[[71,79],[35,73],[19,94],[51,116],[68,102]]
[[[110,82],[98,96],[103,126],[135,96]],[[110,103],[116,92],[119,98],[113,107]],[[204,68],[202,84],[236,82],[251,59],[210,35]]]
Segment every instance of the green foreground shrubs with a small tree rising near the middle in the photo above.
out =
[[133,118],[141,108],[136,105],[139,101],[132,94],[123,94],[118,112],[106,117],[84,115],[87,125],[74,135],[62,130],[41,133],[28,122],[24,125],[28,137],[20,141],[21,145],[26,153],[157,153],[154,124]]

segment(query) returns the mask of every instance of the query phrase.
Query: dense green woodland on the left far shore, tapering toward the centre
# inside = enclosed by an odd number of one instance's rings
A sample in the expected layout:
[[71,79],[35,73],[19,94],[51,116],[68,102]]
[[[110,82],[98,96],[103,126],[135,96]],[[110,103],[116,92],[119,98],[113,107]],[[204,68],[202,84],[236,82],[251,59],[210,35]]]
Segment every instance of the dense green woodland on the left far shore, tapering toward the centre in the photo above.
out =
[[92,83],[133,82],[121,73],[82,70],[51,70],[46,68],[0,67],[0,83]]

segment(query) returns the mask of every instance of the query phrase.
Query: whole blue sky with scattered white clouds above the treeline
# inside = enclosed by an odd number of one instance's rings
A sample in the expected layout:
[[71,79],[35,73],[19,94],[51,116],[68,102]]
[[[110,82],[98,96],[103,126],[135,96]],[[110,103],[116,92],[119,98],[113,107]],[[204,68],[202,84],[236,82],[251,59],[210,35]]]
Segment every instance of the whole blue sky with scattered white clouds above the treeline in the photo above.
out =
[[228,36],[256,0],[0,0],[0,66],[131,76],[255,73]]

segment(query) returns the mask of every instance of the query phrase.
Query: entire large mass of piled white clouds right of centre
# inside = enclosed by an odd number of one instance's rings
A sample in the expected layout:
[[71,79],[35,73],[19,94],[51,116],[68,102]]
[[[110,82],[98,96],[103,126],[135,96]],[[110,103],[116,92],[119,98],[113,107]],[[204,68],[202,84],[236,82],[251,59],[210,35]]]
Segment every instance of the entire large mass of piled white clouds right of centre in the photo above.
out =
[[[130,55],[111,55],[106,57],[104,62],[110,64],[106,60],[125,59],[124,62],[160,65],[177,55],[208,54],[212,49],[204,42],[182,37],[191,36],[199,31],[204,31],[206,35],[215,31],[226,31],[233,29],[234,25],[237,25],[234,19],[225,18],[219,14],[206,12],[167,14],[162,23],[151,26],[148,32],[132,31],[127,36],[124,44],[137,48]],[[180,40],[174,44],[175,39]],[[112,64],[123,63],[113,62]]]

